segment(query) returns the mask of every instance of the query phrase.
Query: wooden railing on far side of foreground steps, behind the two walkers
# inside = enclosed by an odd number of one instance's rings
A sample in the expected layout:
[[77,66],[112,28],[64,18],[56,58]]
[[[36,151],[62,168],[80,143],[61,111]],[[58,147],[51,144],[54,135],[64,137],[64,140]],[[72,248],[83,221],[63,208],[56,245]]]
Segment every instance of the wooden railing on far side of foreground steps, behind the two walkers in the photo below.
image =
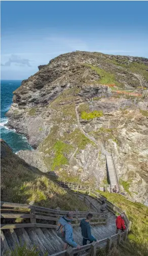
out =
[[[18,212],[19,212],[19,208],[30,210],[30,214],[8,213],[8,212],[2,213],[1,218],[3,218],[3,219],[16,219],[16,218],[30,219],[30,223],[2,224],[1,225],[2,229],[32,227],[32,226],[56,228],[59,217],[63,216],[63,214],[68,213],[68,211],[53,210],[53,209],[49,209],[49,208],[43,208],[43,207],[38,207],[38,206],[29,206],[27,204],[19,204],[19,203],[11,203],[11,202],[1,202],[1,206],[4,208],[3,210],[5,210],[6,207],[12,208],[12,209],[10,209],[10,211],[12,211],[12,212],[13,212],[13,210],[16,210],[16,208],[18,208],[17,209]],[[15,209],[13,209],[13,208],[15,208]],[[44,212],[48,213],[48,215],[47,214],[43,215]],[[49,215],[50,213],[52,214],[52,217]],[[89,212],[73,212],[74,218],[72,220],[72,226],[80,225],[80,221],[84,217],[86,217],[86,215],[88,213]],[[91,220],[91,225],[98,225],[98,224],[106,223],[107,215],[97,213],[97,212],[92,212],[92,214],[93,214],[93,218]],[[55,221],[55,224],[50,225],[50,224],[36,223],[36,219]],[[97,220],[97,222],[96,222],[96,220]]]

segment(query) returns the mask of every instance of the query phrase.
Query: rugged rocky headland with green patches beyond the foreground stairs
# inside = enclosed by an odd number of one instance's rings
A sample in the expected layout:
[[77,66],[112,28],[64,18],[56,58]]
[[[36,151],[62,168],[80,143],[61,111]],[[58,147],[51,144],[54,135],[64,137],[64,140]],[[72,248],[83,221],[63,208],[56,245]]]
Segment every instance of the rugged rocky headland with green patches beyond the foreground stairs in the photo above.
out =
[[63,180],[103,183],[105,159],[87,133],[113,153],[121,188],[146,203],[147,68],[145,58],[88,52],[39,66],[14,92],[7,113],[7,125],[35,148],[19,156]]

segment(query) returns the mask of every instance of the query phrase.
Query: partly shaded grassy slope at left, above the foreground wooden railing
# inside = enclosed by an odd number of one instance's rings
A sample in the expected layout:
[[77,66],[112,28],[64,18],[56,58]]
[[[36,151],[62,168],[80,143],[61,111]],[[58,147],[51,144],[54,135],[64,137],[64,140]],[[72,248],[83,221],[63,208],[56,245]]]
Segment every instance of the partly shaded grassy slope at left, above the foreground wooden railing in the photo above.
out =
[[61,210],[87,210],[77,196],[60,188],[49,176],[29,166],[1,141],[1,200],[29,203]]

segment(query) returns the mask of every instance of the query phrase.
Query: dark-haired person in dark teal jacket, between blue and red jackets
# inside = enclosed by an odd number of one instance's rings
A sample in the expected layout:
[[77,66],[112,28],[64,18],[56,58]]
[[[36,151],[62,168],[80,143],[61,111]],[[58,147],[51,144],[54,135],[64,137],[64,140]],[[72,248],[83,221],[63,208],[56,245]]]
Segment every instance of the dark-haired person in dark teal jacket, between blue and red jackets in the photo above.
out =
[[86,219],[82,219],[80,222],[81,232],[83,236],[83,245],[87,244],[87,240],[92,243],[93,241],[97,241],[92,235],[91,235],[91,227],[90,227],[90,220],[92,219],[93,215],[89,213],[86,217]]

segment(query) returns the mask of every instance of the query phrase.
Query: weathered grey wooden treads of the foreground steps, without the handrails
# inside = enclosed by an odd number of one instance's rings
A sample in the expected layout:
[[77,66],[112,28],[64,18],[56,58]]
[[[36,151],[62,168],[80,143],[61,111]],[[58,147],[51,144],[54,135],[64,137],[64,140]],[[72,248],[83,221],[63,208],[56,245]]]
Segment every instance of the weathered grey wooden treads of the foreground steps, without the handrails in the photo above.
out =
[[[115,235],[115,233],[116,233],[116,225],[115,225],[116,217],[115,217],[115,215],[109,211],[106,211],[105,214],[100,213],[100,211],[99,211],[100,203],[96,199],[94,199],[90,196],[80,195],[81,200],[84,200],[84,197],[85,197],[86,204],[88,206],[91,206],[93,211],[94,211],[94,209],[96,210],[96,213],[93,212],[94,219],[97,219],[99,221],[99,222],[94,222],[94,224],[92,223],[92,225],[91,225],[92,226],[91,227],[92,235],[94,237],[96,237],[96,239],[98,239],[98,240]],[[9,206],[9,204],[7,204],[7,203],[6,204],[2,203],[2,206],[5,206],[5,205]],[[28,206],[28,207],[31,207],[31,206]],[[2,210],[2,212],[3,212],[5,207],[2,207],[2,208],[3,208],[3,210]],[[41,210],[40,207],[38,207],[38,209]],[[35,210],[35,212],[36,211],[37,210]],[[52,213],[49,212],[50,216],[52,216],[52,217],[49,217],[49,219],[51,219],[51,220],[55,219],[53,217],[53,215],[56,212],[55,210],[52,210],[52,211],[53,211]],[[2,214],[2,212],[1,212],[2,218],[9,217],[9,214],[6,214],[6,213]],[[31,212],[32,212],[32,210],[31,210]],[[64,211],[61,211],[61,213],[58,212],[58,215],[62,215],[62,213],[64,214],[65,212]],[[16,217],[16,215],[17,214],[15,214],[15,217]],[[76,222],[77,221],[80,222],[80,220],[87,215],[87,212],[84,212],[84,213],[76,212],[75,215],[78,215],[78,217],[80,217],[80,215],[82,215],[82,217],[77,218],[77,220],[76,220]],[[32,215],[30,215],[30,216],[32,217]],[[45,216],[47,216],[47,215],[45,215]],[[12,214],[10,214],[10,217],[13,217]],[[23,217],[23,215],[22,215],[22,217]],[[28,216],[24,215],[24,217],[28,217]],[[46,219],[46,217],[45,217],[45,219]],[[94,220],[94,221],[96,221],[96,220]],[[93,222],[93,220],[92,220],[92,222]],[[1,225],[1,255],[2,256],[5,254],[6,251],[10,251],[10,249],[14,249],[15,243],[24,244],[26,242],[28,247],[32,247],[35,244],[39,248],[41,256],[44,255],[45,252],[48,252],[48,255],[52,255],[54,253],[62,251],[62,249],[63,249],[63,242],[56,235],[56,232],[55,232],[56,225],[54,225],[54,228],[46,227],[47,225],[53,226],[53,223],[52,224],[35,223],[34,225],[36,225],[36,226],[33,226],[33,224],[32,224],[32,227],[31,227],[31,223],[28,223],[28,224],[25,223],[24,227],[21,227],[21,225],[23,225],[23,224],[16,224],[16,225],[11,224],[11,225],[9,225],[9,224]],[[28,227],[26,227],[27,225],[28,225]],[[39,225],[39,227],[37,225]],[[44,225],[45,225],[45,227],[44,227]],[[73,224],[73,238],[75,239],[75,241],[78,244],[82,245],[83,238],[81,236],[81,228],[79,227],[79,223]],[[9,255],[9,253],[8,253],[8,255]]]

